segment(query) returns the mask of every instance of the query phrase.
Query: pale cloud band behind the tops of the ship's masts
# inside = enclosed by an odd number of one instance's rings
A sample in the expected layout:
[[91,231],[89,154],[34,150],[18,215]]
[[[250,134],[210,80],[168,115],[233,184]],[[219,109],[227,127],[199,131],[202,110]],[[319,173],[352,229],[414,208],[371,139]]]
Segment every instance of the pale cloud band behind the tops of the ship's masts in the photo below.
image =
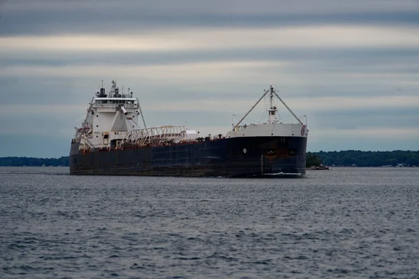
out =
[[[367,60],[367,61],[365,61]],[[407,59],[406,59],[407,60]],[[349,61],[349,63],[346,63]],[[196,61],[168,64],[70,64],[68,66],[6,66],[0,69],[3,88],[16,91],[22,84],[34,84],[42,90],[25,98],[5,98],[3,103],[13,100],[31,102],[54,100],[59,95],[66,101],[87,98],[98,89],[100,80],[117,78],[120,85],[131,86],[140,99],[153,102],[159,96],[166,100],[206,100],[212,98],[253,98],[262,92],[270,82],[285,93],[285,98],[346,96],[362,98],[369,96],[416,96],[419,86],[417,80],[417,59],[402,61],[395,59],[318,59],[318,60],[237,60]],[[66,63],[64,63],[66,65]],[[10,83],[8,78],[15,79]],[[40,80],[42,82],[40,82]],[[62,85],[56,80],[61,80]],[[66,81],[68,80],[68,81]],[[71,81],[71,82],[70,82]],[[77,82],[76,82],[77,81]],[[96,82],[96,83],[95,83]],[[214,86],[216,84],[216,86]],[[19,87],[18,87],[19,86]],[[55,88],[53,87],[55,86]],[[24,87],[20,89],[24,94]],[[14,89],[14,90],[13,90]],[[57,92],[55,92],[57,91]],[[91,93],[89,93],[91,92]],[[88,96],[86,96],[88,94]],[[35,98],[37,97],[37,98]],[[392,98],[392,97],[390,97]],[[55,99],[58,100],[58,99]],[[63,100],[63,99],[60,99]],[[374,105],[374,104],[373,104]]]

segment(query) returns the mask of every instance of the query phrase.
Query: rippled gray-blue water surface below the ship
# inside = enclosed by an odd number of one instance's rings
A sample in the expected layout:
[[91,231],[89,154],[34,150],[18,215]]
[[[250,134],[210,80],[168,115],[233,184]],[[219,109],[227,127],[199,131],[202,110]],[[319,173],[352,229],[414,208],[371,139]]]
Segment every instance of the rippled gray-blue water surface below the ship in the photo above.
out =
[[419,278],[419,168],[0,176],[0,278]]

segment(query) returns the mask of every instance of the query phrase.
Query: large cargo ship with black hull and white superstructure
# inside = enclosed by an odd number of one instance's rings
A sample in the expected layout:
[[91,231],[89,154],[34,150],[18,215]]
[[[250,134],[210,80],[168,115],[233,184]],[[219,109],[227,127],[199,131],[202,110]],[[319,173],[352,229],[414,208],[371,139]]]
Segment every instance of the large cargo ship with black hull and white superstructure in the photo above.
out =
[[[267,98],[265,123],[243,124]],[[279,118],[277,103],[293,123]],[[139,120],[141,122],[139,122]],[[281,177],[306,173],[306,123],[272,84],[227,133],[200,135],[186,125],[147,127],[138,98],[112,81],[91,98],[71,140],[70,173],[80,175]]]

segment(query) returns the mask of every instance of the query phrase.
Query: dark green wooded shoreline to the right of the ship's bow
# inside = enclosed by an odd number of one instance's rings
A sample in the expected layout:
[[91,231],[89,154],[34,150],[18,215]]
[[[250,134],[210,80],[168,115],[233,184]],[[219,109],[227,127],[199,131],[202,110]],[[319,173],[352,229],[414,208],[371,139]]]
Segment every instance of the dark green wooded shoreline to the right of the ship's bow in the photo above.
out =
[[[309,152],[307,153],[307,155]],[[406,164],[419,166],[419,151],[330,151],[314,152],[323,165],[381,167],[383,165]]]

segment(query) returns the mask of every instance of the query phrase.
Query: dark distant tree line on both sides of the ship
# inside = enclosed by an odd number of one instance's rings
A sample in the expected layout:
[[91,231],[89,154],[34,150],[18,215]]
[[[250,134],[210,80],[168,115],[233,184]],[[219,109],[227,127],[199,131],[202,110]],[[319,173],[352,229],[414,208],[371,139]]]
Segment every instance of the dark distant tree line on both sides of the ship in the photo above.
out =
[[[30,158],[30,157],[3,157],[0,158],[2,167],[22,166],[63,166],[68,167],[68,156],[60,158]],[[320,165],[357,166],[357,167],[381,167],[397,164],[419,167],[419,151],[320,151],[307,152],[307,167]]]

